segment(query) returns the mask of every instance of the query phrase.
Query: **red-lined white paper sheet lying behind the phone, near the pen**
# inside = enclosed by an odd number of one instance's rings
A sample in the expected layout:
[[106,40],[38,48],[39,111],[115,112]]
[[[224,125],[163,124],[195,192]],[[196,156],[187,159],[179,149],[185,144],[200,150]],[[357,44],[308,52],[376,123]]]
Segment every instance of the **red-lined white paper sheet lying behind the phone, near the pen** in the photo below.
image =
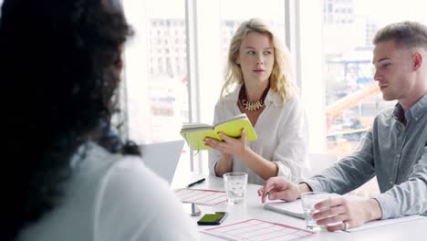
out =
[[203,189],[179,189],[175,194],[182,203],[216,205],[227,201],[224,191]]

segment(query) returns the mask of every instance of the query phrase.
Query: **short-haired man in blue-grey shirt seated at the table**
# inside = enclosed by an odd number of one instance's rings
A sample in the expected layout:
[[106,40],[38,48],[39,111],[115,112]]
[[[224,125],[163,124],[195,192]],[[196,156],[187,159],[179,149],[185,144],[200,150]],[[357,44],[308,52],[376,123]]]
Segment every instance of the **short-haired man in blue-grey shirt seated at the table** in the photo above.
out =
[[[316,204],[313,215],[328,231],[345,230],[370,220],[427,211],[427,26],[401,22],[374,37],[372,63],[384,100],[398,100],[383,110],[356,152],[320,175],[294,184],[273,177],[258,190],[262,202],[292,201],[302,193],[346,194],[377,176],[378,196],[366,200],[331,198]],[[336,223],[336,224],[334,224]]]

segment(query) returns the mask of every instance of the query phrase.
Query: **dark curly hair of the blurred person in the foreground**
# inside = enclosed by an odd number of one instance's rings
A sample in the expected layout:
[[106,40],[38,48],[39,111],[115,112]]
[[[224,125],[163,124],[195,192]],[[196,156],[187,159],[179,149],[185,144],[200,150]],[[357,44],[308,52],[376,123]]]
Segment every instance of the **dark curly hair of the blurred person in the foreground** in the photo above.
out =
[[109,123],[131,34],[115,0],[5,0],[1,240],[60,204],[70,159]]

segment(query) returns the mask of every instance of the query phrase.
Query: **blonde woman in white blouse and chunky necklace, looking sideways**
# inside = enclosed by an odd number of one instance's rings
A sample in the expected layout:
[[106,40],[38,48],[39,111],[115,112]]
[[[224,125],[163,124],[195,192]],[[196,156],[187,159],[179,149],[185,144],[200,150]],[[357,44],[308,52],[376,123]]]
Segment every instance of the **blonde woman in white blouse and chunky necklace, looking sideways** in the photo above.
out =
[[222,136],[205,139],[210,173],[248,173],[248,182],[263,184],[273,176],[294,183],[306,177],[305,112],[292,82],[289,57],[273,32],[259,19],[242,23],[232,38],[225,82],[215,106],[214,123],[245,113],[257,141]]

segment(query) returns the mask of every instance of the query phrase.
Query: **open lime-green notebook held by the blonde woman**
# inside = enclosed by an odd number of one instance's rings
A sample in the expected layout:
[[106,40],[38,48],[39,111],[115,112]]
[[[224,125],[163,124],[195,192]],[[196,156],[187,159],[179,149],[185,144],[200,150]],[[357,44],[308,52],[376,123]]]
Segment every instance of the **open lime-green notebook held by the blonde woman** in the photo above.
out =
[[184,123],[181,129],[181,135],[187,141],[187,144],[193,150],[210,150],[212,148],[204,145],[206,137],[212,137],[216,140],[222,141],[218,136],[219,132],[225,135],[239,138],[242,129],[245,129],[246,140],[255,141],[258,139],[255,129],[251,121],[247,119],[246,114],[236,115],[227,121],[223,121],[214,126],[203,123]]

